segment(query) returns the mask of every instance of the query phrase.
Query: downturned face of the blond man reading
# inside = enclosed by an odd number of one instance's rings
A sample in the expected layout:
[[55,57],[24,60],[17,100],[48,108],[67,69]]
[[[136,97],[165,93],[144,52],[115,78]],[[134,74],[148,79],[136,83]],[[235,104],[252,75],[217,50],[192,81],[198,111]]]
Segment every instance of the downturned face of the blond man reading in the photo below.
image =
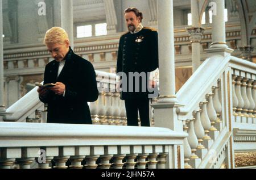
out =
[[69,41],[65,40],[64,44],[49,43],[46,44],[46,47],[49,53],[51,53],[52,58],[54,58],[57,62],[60,62],[64,60],[64,57],[69,51]]

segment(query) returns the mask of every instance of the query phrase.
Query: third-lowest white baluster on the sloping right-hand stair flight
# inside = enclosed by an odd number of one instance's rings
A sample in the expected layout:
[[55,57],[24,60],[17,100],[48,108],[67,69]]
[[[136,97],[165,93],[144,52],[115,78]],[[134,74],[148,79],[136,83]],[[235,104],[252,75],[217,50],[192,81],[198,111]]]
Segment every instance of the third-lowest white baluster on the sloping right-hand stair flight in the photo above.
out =
[[194,122],[194,127],[195,127],[195,133],[196,133],[196,137],[198,139],[198,146],[196,149],[204,149],[204,145],[203,143],[203,138],[204,138],[204,127],[201,123],[201,118],[200,118],[200,114],[201,114],[202,110],[199,111],[195,111],[194,113],[196,114],[196,118],[195,118],[195,122]]

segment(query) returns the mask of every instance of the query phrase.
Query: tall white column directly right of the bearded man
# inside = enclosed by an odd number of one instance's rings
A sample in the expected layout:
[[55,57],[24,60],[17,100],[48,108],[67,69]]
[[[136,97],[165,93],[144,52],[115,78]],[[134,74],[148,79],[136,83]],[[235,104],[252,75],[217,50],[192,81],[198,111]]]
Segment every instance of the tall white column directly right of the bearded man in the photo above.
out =
[[159,102],[176,102],[173,1],[158,1],[158,12]]

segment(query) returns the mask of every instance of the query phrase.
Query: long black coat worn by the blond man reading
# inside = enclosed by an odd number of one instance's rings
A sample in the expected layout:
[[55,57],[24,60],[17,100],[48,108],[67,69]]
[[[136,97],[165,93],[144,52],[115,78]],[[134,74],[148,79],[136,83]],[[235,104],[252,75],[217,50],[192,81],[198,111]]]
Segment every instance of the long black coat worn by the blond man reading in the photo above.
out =
[[98,98],[96,73],[93,65],[77,56],[72,49],[65,57],[65,65],[57,78],[59,62],[53,60],[46,65],[44,84],[62,82],[65,97],[51,91],[40,101],[48,104],[47,123],[92,124],[87,102]]

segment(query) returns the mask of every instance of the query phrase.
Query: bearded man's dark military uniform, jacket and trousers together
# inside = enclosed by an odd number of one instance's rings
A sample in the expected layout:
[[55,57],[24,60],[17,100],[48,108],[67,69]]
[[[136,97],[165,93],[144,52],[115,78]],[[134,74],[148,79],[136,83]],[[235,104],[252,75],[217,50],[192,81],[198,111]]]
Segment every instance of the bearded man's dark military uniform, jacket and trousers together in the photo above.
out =
[[[141,31],[131,34],[126,32],[119,41],[117,73],[123,72],[127,76],[127,83],[122,82],[121,99],[125,100],[127,123],[128,125],[138,125],[138,110],[142,126],[150,126],[149,120],[149,99],[148,81],[142,84],[140,78],[139,84],[133,79],[133,91],[129,91],[129,72],[139,74],[144,72],[149,75],[150,72],[158,68],[158,32],[152,28],[143,27]],[[127,87],[127,92],[125,88]],[[139,86],[139,91],[136,91]],[[144,91],[143,89],[146,89]],[[156,95],[157,96],[157,95]]]

